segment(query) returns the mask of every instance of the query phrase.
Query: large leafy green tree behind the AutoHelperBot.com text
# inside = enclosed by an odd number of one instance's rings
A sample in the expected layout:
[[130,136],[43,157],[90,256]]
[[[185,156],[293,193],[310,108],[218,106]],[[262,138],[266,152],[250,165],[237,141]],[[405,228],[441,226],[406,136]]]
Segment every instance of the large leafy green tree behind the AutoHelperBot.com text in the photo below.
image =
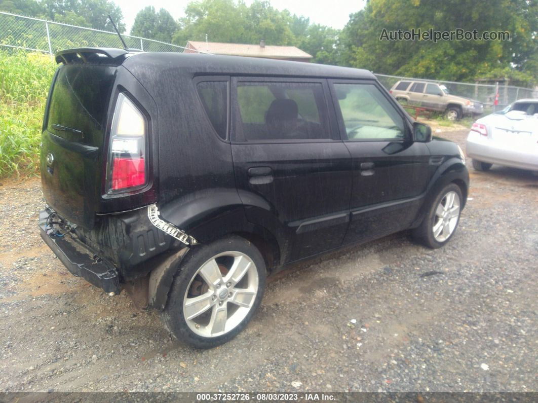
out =
[[[376,73],[455,81],[496,68],[522,71],[537,52],[536,2],[532,0],[369,0],[351,16],[341,36],[342,62]],[[411,29],[479,33],[509,31],[511,41],[380,40],[387,31]]]

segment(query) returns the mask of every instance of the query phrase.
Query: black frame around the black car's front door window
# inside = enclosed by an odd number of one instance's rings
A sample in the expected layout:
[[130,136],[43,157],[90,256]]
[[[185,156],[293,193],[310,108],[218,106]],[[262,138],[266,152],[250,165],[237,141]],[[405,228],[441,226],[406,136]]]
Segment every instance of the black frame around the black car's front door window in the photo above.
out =
[[[388,93],[388,91],[383,87],[377,80],[369,79],[356,79],[356,80],[345,80],[345,79],[334,79],[328,80],[329,88],[331,91],[332,104],[334,105],[334,110],[336,112],[337,121],[338,121],[338,130],[340,132],[340,137],[344,143],[379,143],[379,142],[388,142],[388,143],[408,143],[413,141],[413,130],[412,122],[409,121],[409,117],[405,114],[404,109],[401,105],[395,100],[395,98]],[[342,116],[342,111],[340,109],[340,103],[338,102],[338,97],[336,95],[336,90],[334,84],[373,84],[374,87],[379,89],[381,95],[383,95],[389,104],[391,104],[394,109],[397,111],[398,115],[402,118],[405,128],[405,137],[401,139],[395,138],[376,138],[376,139],[350,139],[345,131],[344,118]]]

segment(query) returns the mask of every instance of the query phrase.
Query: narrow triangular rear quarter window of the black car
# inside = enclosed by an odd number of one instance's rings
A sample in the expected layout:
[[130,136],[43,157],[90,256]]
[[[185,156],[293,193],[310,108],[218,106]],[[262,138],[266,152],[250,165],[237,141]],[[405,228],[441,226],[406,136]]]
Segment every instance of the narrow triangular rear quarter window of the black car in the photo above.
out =
[[228,128],[228,81],[202,81],[196,86],[202,105],[217,135],[226,139]]

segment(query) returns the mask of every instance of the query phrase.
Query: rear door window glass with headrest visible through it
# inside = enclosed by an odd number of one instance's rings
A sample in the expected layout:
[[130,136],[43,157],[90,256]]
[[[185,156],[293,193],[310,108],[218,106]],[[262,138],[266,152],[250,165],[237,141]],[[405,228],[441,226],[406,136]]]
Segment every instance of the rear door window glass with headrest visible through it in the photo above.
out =
[[330,139],[321,83],[237,83],[235,140]]

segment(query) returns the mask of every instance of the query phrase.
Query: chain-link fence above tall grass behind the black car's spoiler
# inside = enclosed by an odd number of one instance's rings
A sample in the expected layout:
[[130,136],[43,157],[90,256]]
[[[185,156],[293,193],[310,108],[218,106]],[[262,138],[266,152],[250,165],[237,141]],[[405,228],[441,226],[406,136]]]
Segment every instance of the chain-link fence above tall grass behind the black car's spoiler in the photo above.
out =
[[[129,48],[146,52],[183,52],[185,47],[154,39],[122,34]],[[116,32],[95,30],[69,24],[55,23],[39,18],[18,16],[0,11],[0,46],[52,55],[59,50],[74,47],[122,48]]]

